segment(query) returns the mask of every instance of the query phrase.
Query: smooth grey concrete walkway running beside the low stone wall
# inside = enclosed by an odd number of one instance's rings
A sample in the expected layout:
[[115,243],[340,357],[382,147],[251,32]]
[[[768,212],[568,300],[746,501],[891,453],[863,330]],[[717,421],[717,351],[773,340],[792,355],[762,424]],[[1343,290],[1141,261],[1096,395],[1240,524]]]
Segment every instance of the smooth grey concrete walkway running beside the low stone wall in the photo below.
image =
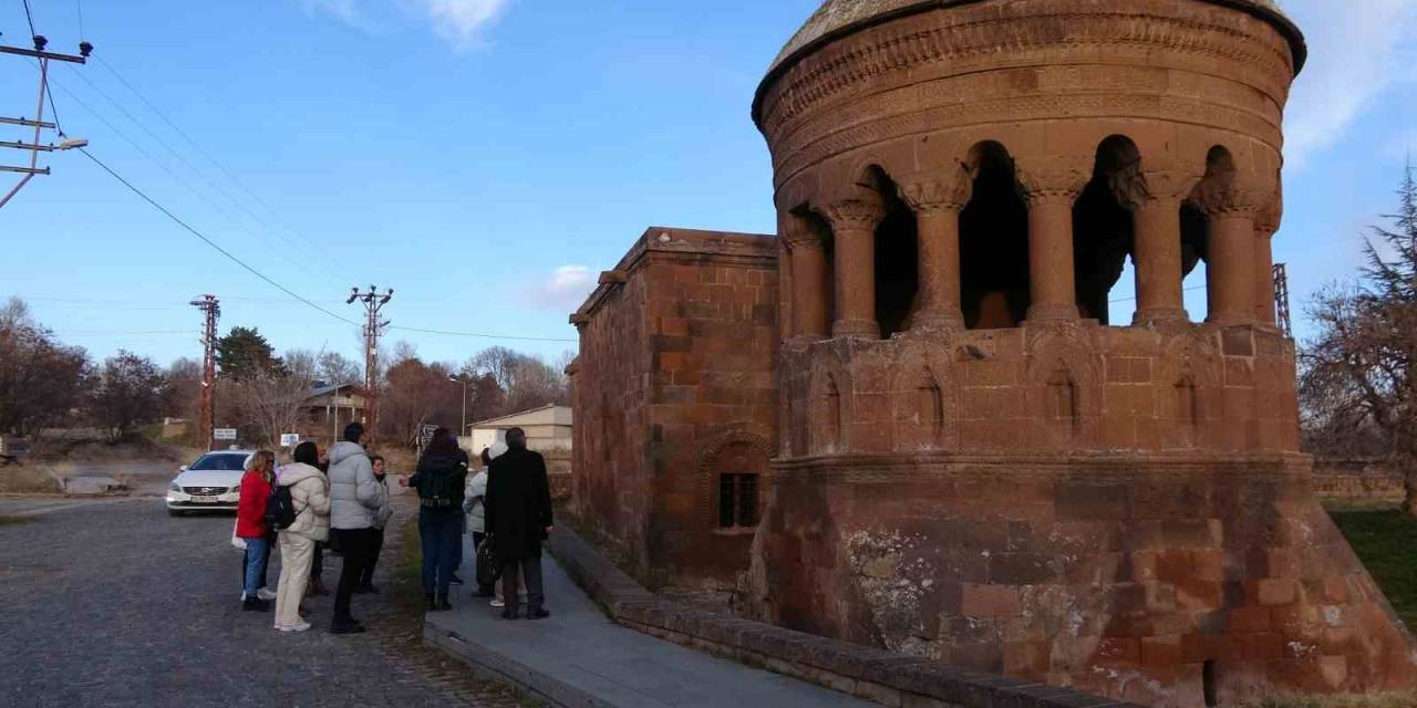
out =
[[[468,544],[469,548],[472,544]],[[509,622],[459,590],[453,612],[429,613],[428,643],[553,705],[833,708],[873,707],[812,684],[716,658],[612,623],[547,555],[550,619]],[[463,565],[463,576],[472,564]],[[469,578],[470,579],[470,578]]]

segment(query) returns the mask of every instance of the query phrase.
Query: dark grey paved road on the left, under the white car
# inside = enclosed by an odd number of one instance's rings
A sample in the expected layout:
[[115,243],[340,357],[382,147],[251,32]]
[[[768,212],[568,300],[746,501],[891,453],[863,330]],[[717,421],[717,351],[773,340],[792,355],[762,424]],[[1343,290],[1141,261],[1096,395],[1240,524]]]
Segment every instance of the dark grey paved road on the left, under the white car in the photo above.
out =
[[[356,596],[356,616],[376,630],[356,637],[324,632],[330,598],[312,600],[316,629],[305,634],[242,613],[231,525],[230,515],[170,518],[150,497],[0,498],[0,705],[521,705],[398,646],[387,596]],[[337,571],[327,559],[326,579]],[[278,572],[272,562],[272,585]]]

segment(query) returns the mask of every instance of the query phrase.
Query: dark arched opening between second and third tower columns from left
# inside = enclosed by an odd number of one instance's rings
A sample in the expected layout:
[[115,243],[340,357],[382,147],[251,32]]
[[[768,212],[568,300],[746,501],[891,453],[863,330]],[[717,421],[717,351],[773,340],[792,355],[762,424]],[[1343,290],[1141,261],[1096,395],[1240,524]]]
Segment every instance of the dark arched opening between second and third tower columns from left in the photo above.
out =
[[910,329],[920,307],[920,232],[915,212],[900,200],[896,183],[880,167],[871,167],[862,181],[876,193],[886,218],[876,227],[876,321],[881,337]]

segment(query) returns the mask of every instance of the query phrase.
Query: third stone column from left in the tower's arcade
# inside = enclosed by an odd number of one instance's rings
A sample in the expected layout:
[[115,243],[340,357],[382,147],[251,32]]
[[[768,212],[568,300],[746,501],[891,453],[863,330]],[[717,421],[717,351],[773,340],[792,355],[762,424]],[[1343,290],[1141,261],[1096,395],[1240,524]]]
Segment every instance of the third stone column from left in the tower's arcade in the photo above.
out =
[[903,180],[901,200],[915,211],[920,236],[920,312],[913,330],[964,329],[959,275],[959,212],[973,195],[965,170],[941,178]]

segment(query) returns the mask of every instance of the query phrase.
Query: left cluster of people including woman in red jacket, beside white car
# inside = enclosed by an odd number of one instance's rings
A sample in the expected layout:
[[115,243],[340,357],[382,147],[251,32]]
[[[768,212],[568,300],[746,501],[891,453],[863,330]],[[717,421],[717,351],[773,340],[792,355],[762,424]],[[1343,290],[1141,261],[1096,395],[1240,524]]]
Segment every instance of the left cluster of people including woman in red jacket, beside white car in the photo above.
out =
[[[364,426],[350,423],[344,428],[344,440],[330,447],[329,455],[322,456],[319,446],[303,442],[295,447],[290,464],[283,467],[276,469],[275,455],[268,450],[247,462],[235,530],[245,542],[242,609],[271,612],[271,600],[275,600],[275,629],[279,632],[310,629],[305,620],[310,610],[302,600],[306,593],[323,590],[320,558],[327,544],[344,555],[330,633],[364,632],[364,624],[351,612],[353,596],[378,592],[374,568],[393,508],[384,459],[364,450],[363,436]],[[272,503],[279,506],[283,498],[288,498],[290,518],[282,523],[268,511]],[[265,581],[276,544],[281,579],[272,592]]]

